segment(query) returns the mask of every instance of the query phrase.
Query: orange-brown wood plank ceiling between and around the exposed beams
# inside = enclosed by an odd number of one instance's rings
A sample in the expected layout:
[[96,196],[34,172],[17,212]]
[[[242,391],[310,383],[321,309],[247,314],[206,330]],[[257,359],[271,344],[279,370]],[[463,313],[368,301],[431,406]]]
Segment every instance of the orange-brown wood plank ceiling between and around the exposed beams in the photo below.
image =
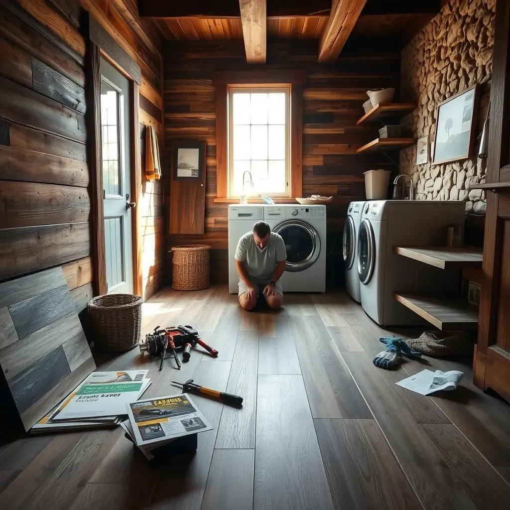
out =
[[[268,0],[268,39],[320,39],[328,25],[331,4],[331,0]],[[333,0],[333,5],[340,7],[337,11],[347,8],[349,13],[362,8],[351,37],[397,38],[404,45],[439,12],[442,0],[416,3],[409,0],[366,0],[366,3]],[[153,18],[160,26],[164,25],[167,39],[243,39],[239,0],[189,3],[138,0],[138,6],[142,17]]]

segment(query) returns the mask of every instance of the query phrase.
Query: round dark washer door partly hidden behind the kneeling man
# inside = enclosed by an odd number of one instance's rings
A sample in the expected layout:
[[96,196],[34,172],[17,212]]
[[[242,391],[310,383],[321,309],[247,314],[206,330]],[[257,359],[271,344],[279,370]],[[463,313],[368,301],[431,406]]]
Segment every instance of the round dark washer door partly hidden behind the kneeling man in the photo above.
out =
[[320,238],[315,228],[301,220],[287,220],[273,232],[283,237],[287,251],[286,271],[303,271],[319,258]]

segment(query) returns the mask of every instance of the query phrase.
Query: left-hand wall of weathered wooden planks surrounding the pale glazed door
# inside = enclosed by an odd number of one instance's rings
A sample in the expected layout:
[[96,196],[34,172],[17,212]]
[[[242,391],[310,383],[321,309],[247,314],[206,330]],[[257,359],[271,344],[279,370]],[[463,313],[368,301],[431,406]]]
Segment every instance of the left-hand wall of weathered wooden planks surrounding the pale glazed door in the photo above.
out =
[[[93,278],[83,8],[140,65],[139,120],[162,134],[161,40],[154,27],[130,18],[135,0],[122,4],[123,16],[115,8],[120,4],[4,0],[0,5],[0,281],[62,266],[79,312],[92,297]],[[162,185],[143,183],[143,191],[148,296],[163,272],[161,263],[154,264],[162,259],[155,248],[161,244]]]

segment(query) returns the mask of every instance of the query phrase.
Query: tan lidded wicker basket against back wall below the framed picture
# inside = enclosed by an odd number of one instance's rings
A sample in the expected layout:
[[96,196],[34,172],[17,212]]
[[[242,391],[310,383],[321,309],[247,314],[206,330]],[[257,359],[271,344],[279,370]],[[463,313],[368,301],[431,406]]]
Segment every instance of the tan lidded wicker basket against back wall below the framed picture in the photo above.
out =
[[175,290],[207,289],[209,250],[205,244],[172,247],[172,288]]

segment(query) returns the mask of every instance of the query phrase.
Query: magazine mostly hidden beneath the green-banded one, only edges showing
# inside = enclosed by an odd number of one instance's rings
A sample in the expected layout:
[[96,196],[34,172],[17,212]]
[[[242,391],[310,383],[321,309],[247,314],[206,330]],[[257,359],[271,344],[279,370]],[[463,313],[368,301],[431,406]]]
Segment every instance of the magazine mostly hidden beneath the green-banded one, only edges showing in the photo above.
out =
[[[46,432],[53,431],[59,432],[63,430],[86,430],[91,428],[102,428],[102,427],[111,427],[118,425],[122,419],[122,415],[116,416],[100,416],[94,418],[80,418],[74,421],[53,421],[52,417],[61,412],[67,403],[77,394],[80,387],[83,385],[83,382],[80,383],[69,395],[67,395],[63,400],[61,400],[52,410],[49,411],[45,416],[43,416],[31,429],[31,433],[38,432]],[[142,382],[142,388],[140,390],[140,394],[138,398],[140,398],[145,390],[151,385],[151,380],[148,378],[144,378]],[[126,413],[124,413],[125,415]]]

